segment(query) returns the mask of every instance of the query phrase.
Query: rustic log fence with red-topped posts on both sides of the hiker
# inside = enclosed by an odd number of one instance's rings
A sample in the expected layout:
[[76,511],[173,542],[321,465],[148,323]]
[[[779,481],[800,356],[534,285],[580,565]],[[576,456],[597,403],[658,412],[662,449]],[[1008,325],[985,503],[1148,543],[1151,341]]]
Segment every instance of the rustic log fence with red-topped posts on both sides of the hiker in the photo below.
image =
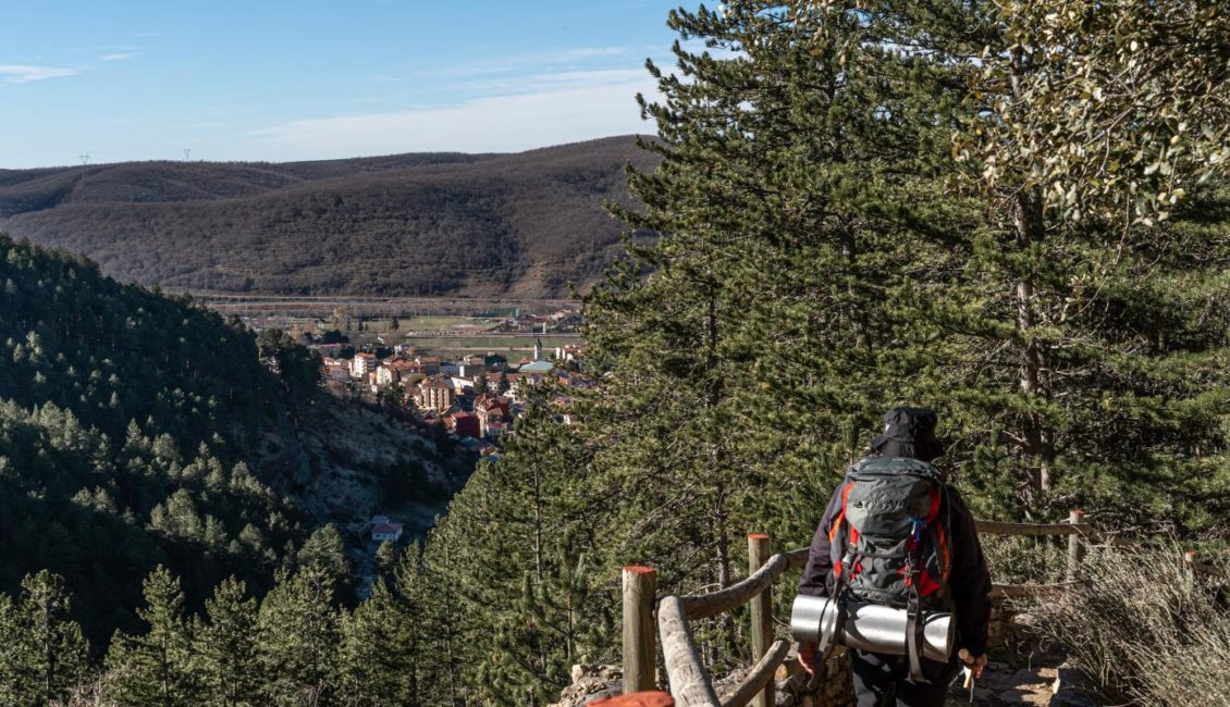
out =
[[[1073,510],[1068,523],[999,523],[977,521],[978,531],[986,535],[1058,536],[1068,540],[1068,582],[1064,584],[995,584],[993,598],[1016,598],[1044,594],[1075,582],[1085,545],[1081,539],[1105,540],[1085,523],[1085,514]],[[674,594],[656,601],[657,575],[648,567],[624,568],[624,692],[633,693],[656,689],[654,665],[657,644],[670,682],[670,695],[679,707],[769,707],[774,705],[774,675],[790,650],[790,641],[774,641],[770,590],[791,568],[807,564],[808,548],[791,550],[769,556],[769,536],[748,536],[748,578],[738,584],[710,594]],[[705,669],[692,638],[691,621],[710,618],[744,604],[752,604],[750,633],[756,663],[747,677],[726,695],[718,696],[712,677]],[[654,614],[657,636],[654,636]]]

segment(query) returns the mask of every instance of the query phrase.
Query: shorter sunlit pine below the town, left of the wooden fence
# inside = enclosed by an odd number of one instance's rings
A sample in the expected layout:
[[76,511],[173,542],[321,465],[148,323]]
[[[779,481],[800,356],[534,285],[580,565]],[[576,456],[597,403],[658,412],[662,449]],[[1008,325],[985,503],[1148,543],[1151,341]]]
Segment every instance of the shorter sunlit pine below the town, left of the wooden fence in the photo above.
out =
[[589,454],[546,400],[528,402],[499,461],[471,476],[429,543],[428,564],[456,593],[445,621],[459,622],[461,641],[448,648],[472,666],[462,679],[480,701],[550,702],[588,652],[584,628],[609,612],[610,596],[573,575],[600,515],[581,502]]

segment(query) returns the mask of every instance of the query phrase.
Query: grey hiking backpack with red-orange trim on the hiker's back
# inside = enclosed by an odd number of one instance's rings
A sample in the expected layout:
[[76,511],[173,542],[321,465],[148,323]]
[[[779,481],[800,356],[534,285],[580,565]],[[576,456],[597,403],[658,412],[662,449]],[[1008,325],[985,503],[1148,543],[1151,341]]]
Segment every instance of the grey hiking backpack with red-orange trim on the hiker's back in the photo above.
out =
[[907,654],[919,680],[921,615],[953,609],[943,473],[916,459],[872,456],[846,472],[839,493],[829,530],[839,616],[851,601],[907,610]]

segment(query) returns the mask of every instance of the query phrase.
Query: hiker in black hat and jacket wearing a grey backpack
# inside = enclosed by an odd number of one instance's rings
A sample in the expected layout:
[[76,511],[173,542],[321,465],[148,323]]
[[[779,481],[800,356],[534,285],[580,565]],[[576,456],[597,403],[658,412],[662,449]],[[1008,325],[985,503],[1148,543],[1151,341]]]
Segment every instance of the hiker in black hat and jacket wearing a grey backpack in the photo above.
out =
[[[894,700],[899,707],[942,706],[948,684],[959,670],[961,649],[968,652],[964,654],[968,655],[967,665],[975,679],[986,665],[990,574],[969,509],[957,489],[946,486],[943,476],[930,465],[943,455],[935,425],[936,414],[927,408],[888,411],[883,434],[871,441],[875,454],[851,467],[833,493],[798,583],[798,593],[812,596],[836,595],[843,601],[954,614],[957,637],[947,663],[926,659],[920,650],[913,658],[909,650],[907,655],[849,650],[859,707],[887,707],[894,705]],[[879,481],[870,481],[872,477]],[[849,500],[851,493],[856,496],[854,504]],[[893,508],[894,503],[900,509],[909,507],[910,500],[918,507],[916,498],[922,498],[925,507],[929,497],[932,503],[926,518],[916,519],[899,511],[897,523],[888,518],[876,525],[877,513],[891,511],[873,509]],[[854,521],[866,531],[861,547],[865,553],[852,551],[857,540],[850,537],[851,534],[859,537],[859,530],[851,529],[851,518],[846,515],[849,505],[857,507]],[[872,530],[895,527],[905,527],[899,531],[903,535],[887,539],[876,535],[881,541],[876,547],[909,550],[870,555],[873,548],[867,537]],[[915,580],[908,582],[908,577]],[[818,653],[815,643],[800,646],[798,659],[808,673],[814,674],[820,660]]]

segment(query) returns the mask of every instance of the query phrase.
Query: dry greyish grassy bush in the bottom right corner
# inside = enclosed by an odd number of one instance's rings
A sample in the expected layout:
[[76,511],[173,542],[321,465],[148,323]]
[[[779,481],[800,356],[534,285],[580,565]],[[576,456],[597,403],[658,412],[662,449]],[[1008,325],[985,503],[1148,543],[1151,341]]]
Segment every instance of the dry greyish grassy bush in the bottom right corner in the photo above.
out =
[[1230,706],[1230,561],[1193,577],[1171,542],[1092,550],[1082,572],[1033,610],[1043,637],[1122,701]]

